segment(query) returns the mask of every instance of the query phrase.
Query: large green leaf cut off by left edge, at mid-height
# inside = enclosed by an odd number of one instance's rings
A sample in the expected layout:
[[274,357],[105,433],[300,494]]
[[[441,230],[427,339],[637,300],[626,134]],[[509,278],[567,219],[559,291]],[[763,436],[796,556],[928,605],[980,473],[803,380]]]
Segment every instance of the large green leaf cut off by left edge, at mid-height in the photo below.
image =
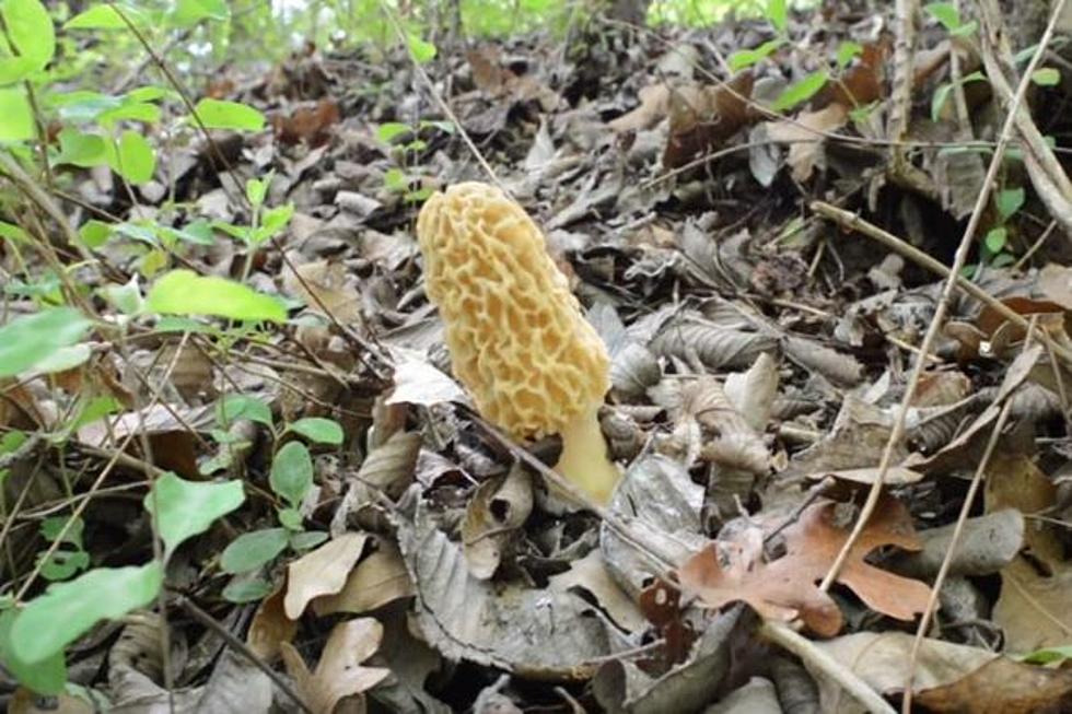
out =
[[16,317],[0,327],[0,377],[35,367],[78,342],[89,329],[90,320],[72,307]]

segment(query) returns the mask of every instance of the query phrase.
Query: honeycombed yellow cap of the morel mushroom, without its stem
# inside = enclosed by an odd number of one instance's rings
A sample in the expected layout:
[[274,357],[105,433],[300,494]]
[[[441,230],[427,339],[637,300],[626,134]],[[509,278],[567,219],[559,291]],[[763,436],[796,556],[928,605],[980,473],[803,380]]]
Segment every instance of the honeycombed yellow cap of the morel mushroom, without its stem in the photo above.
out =
[[606,347],[520,206],[494,186],[457,184],[428,199],[417,235],[454,375],[486,419],[539,438],[598,408]]

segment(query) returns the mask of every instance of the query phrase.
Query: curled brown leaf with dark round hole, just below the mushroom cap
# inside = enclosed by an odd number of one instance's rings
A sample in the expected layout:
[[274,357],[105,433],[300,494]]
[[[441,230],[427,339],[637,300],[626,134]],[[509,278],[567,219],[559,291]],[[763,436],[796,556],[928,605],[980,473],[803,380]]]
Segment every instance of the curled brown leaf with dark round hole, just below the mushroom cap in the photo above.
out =
[[462,522],[463,552],[470,575],[479,580],[494,575],[503,549],[532,512],[532,479],[521,465],[477,488]]

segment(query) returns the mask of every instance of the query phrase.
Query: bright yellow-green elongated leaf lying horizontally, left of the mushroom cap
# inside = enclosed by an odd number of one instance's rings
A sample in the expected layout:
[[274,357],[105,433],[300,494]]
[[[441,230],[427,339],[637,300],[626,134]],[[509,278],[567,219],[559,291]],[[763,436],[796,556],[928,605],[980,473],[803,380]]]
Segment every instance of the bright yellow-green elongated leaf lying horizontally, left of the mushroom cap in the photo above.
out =
[[172,270],[149,292],[145,307],[161,315],[214,315],[230,319],[287,321],[287,309],[271,295],[225,278]]

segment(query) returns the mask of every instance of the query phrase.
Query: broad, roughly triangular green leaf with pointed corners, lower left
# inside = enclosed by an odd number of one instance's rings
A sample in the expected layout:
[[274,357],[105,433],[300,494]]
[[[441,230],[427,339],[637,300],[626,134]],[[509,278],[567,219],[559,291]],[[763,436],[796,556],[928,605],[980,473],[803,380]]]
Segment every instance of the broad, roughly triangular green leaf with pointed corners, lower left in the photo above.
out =
[[242,481],[186,481],[167,472],[156,479],[142,505],[156,515],[167,558],[183,541],[205,532],[213,520],[241,506],[245,498]]

